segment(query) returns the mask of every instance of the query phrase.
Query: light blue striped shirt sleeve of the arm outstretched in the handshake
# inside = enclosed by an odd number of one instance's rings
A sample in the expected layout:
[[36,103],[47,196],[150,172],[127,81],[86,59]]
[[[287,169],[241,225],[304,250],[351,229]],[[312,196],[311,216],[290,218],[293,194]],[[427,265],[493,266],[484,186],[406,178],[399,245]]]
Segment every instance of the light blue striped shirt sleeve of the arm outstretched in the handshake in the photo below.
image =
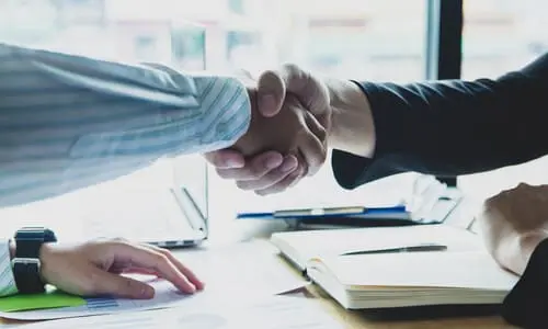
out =
[[250,116],[231,77],[0,44],[0,206],[231,146]]

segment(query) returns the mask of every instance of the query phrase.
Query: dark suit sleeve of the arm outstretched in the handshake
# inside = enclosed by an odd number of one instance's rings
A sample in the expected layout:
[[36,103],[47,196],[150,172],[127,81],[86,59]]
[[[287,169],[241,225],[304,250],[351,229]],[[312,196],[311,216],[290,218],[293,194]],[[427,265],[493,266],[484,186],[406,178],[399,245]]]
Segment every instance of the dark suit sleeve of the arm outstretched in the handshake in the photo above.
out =
[[358,86],[373,111],[375,156],[333,151],[345,189],[406,171],[481,172],[548,151],[548,54],[496,80]]

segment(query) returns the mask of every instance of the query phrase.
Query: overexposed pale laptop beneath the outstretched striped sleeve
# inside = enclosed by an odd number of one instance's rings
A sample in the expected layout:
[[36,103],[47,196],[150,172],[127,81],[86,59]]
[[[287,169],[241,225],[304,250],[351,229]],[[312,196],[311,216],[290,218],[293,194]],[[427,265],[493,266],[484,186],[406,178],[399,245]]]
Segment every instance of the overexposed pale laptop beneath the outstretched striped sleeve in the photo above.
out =
[[183,156],[58,197],[1,208],[0,236],[46,226],[64,242],[124,238],[195,247],[208,238],[207,192],[205,160]]

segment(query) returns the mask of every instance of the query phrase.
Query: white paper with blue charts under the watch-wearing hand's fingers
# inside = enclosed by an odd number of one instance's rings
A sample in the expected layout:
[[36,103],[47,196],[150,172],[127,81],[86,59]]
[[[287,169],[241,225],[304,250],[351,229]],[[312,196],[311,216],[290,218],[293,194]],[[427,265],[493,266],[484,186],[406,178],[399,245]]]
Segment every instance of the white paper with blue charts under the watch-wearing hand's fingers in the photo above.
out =
[[212,303],[232,296],[252,300],[265,296],[302,288],[308,284],[283,264],[275,248],[265,241],[246,242],[219,250],[194,250],[176,252],[189,268],[196,270],[206,284],[203,292],[194,295],[180,293],[171,283],[151,280],[151,276],[134,275],[155,287],[152,299],[88,298],[88,304],[78,307],[38,309],[18,313],[0,313],[0,317],[18,320],[45,320],[80,316],[105,315],[168,307],[207,307]]

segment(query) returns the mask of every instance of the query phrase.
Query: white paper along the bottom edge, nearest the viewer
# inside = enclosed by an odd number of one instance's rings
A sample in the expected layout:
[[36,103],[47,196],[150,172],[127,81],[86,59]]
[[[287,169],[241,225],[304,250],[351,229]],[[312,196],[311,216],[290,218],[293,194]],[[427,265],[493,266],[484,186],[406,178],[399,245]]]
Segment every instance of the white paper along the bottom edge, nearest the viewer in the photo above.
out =
[[318,300],[270,296],[238,303],[214,303],[204,307],[178,307],[121,315],[36,322],[25,329],[343,329]]

